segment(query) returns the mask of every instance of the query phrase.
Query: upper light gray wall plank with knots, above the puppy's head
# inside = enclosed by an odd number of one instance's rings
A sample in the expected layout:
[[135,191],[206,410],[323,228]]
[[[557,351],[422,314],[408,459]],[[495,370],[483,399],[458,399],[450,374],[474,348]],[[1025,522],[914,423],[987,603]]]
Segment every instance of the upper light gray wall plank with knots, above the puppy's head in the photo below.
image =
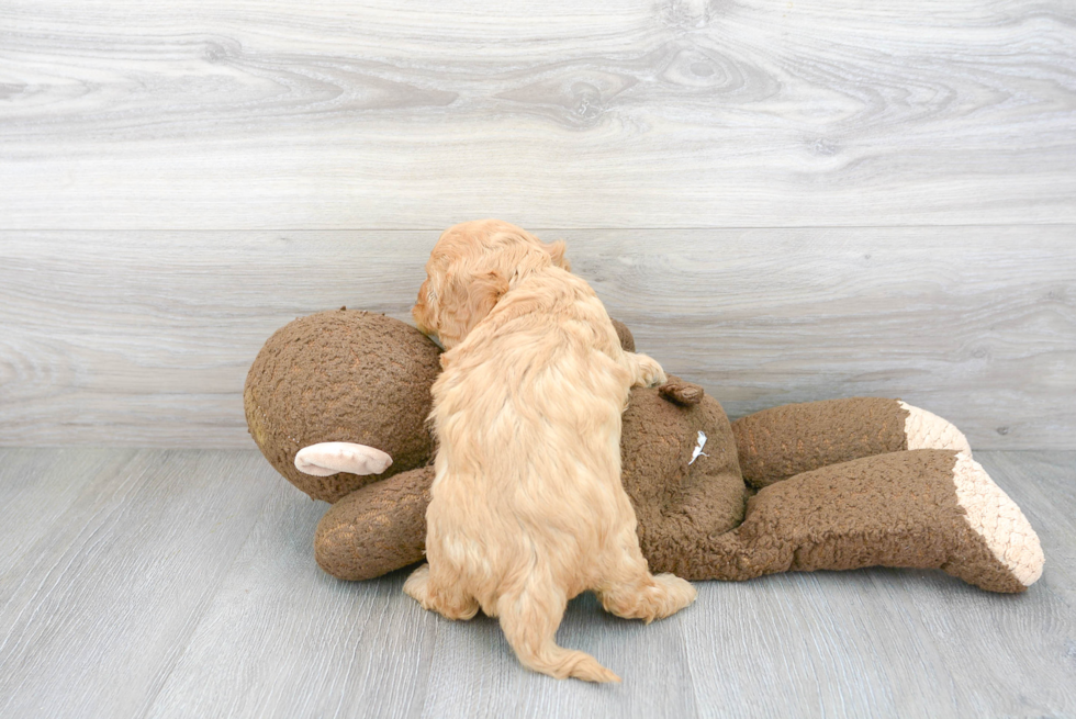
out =
[[1076,222],[1069,0],[0,8],[0,227]]

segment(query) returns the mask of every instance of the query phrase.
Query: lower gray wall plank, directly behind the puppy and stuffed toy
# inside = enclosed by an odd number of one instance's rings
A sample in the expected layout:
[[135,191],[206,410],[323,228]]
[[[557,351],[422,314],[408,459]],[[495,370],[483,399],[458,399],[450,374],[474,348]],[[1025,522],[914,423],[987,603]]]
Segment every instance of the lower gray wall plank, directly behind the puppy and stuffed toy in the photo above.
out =
[[[898,396],[975,448],[1076,447],[1074,226],[537,232],[732,417]],[[251,447],[269,335],[340,305],[410,321],[436,237],[0,233],[0,445]]]

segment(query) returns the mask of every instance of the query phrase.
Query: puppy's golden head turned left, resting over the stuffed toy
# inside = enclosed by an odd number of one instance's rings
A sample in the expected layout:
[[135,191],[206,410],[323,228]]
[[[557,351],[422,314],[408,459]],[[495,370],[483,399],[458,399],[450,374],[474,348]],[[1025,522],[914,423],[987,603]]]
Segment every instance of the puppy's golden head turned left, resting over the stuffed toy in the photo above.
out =
[[515,282],[548,267],[571,271],[563,240],[547,245],[500,220],[464,222],[437,240],[411,314],[418,329],[451,349]]

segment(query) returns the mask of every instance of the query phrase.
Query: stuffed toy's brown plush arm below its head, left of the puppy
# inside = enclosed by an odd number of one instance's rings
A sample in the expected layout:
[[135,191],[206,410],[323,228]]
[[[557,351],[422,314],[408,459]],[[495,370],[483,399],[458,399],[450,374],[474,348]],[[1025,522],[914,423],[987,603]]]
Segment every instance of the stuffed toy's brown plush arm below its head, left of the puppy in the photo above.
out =
[[314,557],[341,580],[370,580],[425,555],[426,507],[434,468],[373,482],[329,507],[317,525]]

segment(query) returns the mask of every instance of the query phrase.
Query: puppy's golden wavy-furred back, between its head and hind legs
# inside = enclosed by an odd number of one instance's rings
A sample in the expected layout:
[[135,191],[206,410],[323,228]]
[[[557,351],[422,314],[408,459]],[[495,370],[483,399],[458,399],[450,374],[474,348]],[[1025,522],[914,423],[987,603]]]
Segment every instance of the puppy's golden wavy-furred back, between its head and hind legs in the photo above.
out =
[[[558,582],[580,583],[596,544],[624,521],[620,413],[630,375],[616,351],[590,287],[550,270],[522,282],[448,353],[434,386],[434,491],[447,506],[470,506],[458,523],[442,520],[478,540],[462,543],[494,572],[540,551],[556,560]],[[486,561],[478,562],[483,584]]]

